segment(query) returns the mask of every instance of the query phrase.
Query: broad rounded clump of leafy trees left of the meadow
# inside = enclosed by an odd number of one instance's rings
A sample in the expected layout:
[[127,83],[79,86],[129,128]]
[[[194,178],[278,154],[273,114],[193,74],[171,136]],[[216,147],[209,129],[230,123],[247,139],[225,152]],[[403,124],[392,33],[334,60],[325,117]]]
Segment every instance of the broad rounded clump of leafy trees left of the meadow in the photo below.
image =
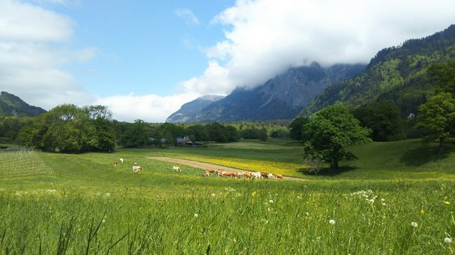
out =
[[52,152],[108,152],[114,147],[111,112],[102,105],[59,105],[22,129],[18,141]]

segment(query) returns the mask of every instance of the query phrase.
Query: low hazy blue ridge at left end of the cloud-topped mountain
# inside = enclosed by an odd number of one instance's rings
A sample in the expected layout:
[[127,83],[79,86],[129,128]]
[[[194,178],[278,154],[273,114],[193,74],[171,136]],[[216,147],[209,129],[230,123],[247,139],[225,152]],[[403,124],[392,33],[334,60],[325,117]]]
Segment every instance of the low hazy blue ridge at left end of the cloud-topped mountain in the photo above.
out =
[[167,117],[166,122],[170,123],[188,123],[193,122],[195,119],[195,115],[202,110],[202,108],[211,105],[218,100],[223,99],[224,96],[216,96],[216,95],[207,95],[201,96],[197,99],[185,103],[181,106],[180,110],[172,113],[169,117]]

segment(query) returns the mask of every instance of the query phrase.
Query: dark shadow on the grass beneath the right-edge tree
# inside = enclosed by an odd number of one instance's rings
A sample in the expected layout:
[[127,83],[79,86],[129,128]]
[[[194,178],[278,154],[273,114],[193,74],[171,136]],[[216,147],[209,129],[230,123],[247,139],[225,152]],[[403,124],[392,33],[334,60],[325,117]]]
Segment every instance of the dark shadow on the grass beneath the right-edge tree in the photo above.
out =
[[453,145],[446,145],[444,147],[444,152],[438,154],[439,147],[422,143],[419,147],[409,149],[407,152],[403,153],[400,162],[404,163],[406,166],[422,166],[426,163],[438,161],[440,159],[445,159],[449,156],[452,151]]

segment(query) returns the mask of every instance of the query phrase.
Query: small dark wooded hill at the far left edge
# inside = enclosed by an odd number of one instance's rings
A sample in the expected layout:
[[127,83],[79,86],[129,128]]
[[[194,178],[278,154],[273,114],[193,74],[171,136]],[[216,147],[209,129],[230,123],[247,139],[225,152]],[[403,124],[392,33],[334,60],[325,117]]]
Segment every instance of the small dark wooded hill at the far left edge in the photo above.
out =
[[29,105],[18,96],[8,92],[0,92],[0,116],[35,117],[46,112],[43,108]]

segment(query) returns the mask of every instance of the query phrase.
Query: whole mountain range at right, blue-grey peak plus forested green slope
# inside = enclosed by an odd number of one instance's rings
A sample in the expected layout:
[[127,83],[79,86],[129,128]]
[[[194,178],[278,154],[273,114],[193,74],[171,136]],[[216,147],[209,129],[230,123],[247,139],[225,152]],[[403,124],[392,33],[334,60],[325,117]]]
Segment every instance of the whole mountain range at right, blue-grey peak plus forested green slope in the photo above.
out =
[[448,61],[455,61],[453,24],[431,36],[384,48],[367,65],[313,63],[290,68],[253,89],[238,87],[176,122],[293,119],[334,103],[348,108],[393,103],[405,117],[415,114],[437,87],[428,77],[428,67]]

